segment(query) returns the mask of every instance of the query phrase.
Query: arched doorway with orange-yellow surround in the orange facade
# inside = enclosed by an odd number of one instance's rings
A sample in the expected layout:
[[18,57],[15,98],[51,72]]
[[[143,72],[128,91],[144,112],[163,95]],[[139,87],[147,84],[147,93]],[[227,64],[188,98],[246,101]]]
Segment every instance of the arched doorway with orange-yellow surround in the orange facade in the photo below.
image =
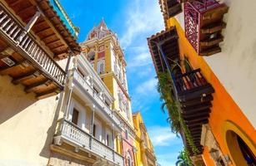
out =
[[256,166],[255,143],[237,125],[228,122],[225,128],[227,129],[225,132],[226,144],[233,164]]

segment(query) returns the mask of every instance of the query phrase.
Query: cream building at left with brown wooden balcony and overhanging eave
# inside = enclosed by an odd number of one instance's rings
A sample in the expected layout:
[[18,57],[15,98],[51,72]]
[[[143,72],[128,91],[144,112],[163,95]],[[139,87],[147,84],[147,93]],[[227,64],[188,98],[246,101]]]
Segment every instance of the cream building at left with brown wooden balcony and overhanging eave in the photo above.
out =
[[0,165],[46,165],[78,28],[57,0],[1,0],[0,33]]

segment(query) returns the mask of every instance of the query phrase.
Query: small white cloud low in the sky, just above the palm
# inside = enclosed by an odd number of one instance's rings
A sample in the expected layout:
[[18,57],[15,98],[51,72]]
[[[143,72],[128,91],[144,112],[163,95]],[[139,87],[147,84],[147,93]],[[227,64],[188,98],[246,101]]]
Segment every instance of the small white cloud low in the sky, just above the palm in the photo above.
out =
[[178,143],[176,134],[173,134],[169,127],[152,126],[148,133],[154,146],[170,146]]

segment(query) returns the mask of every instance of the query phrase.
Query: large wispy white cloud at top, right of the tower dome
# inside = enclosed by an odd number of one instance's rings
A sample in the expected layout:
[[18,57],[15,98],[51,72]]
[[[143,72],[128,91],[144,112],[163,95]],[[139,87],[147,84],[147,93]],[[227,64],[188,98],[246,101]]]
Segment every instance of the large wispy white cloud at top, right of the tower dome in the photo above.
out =
[[126,17],[127,20],[124,22],[126,32],[120,39],[124,49],[141,35],[152,35],[163,29],[163,16],[156,0],[133,1],[128,6]]

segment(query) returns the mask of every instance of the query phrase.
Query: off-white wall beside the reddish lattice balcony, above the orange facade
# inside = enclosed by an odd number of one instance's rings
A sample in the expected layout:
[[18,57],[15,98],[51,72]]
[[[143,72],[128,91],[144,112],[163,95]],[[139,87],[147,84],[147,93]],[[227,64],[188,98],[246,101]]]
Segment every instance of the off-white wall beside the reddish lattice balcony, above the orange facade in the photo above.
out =
[[[256,1],[224,0],[222,52],[203,57],[228,94],[256,128]],[[176,17],[183,25],[183,13]]]

